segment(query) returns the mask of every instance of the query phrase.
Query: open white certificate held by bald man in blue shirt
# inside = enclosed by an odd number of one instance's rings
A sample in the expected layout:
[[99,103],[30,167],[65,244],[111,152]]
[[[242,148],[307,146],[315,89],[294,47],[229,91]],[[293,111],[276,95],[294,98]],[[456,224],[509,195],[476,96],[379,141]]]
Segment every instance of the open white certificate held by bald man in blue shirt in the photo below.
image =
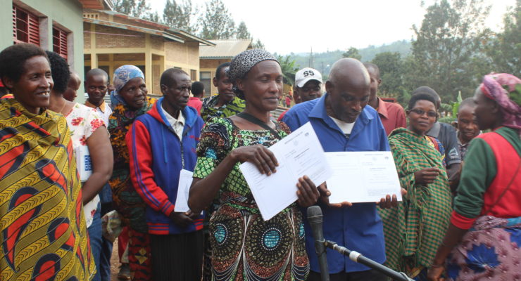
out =
[[379,202],[386,195],[401,201],[398,173],[390,151],[326,152],[333,176],[326,182],[329,203]]

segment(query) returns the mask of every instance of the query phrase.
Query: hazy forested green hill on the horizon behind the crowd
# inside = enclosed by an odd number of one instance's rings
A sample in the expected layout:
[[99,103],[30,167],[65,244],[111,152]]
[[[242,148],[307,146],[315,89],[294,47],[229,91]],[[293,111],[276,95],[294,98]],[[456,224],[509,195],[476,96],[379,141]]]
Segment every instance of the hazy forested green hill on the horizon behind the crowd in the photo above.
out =
[[[349,47],[348,47],[349,48]],[[405,57],[410,53],[411,44],[410,41],[402,40],[402,41],[394,41],[391,44],[382,45],[382,46],[368,46],[367,48],[361,48],[358,50],[358,53],[362,55],[362,61],[370,61],[372,58],[375,58],[377,53],[383,52],[398,52],[401,54],[401,57]],[[346,48],[347,49],[347,48]],[[313,53],[313,62],[311,63],[310,53],[291,53],[291,60],[295,60],[295,66],[300,68],[303,67],[313,67],[323,75],[327,77],[329,74],[329,67],[339,58],[342,58],[342,54],[345,51],[328,51],[325,53]]]

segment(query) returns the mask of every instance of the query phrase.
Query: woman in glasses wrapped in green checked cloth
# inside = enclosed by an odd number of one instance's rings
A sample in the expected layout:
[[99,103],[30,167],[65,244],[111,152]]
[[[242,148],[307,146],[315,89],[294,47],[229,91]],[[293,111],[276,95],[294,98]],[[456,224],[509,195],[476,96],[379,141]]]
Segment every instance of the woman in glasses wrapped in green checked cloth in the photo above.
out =
[[451,215],[451,190],[443,164],[443,146],[425,135],[436,122],[436,100],[427,93],[410,98],[408,129],[389,136],[401,187],[407,190],[398,208],[380,209],[384,221],[387,266],[426,280]]

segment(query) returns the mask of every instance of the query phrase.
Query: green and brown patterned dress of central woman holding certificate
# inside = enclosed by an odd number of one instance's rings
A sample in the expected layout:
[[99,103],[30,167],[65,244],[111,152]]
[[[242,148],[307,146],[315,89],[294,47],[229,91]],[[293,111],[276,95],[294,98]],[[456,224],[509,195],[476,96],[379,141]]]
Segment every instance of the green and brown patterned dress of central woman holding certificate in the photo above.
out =
[[[284,137],[289,128],[277,123],[277,132]],[[269,131],[241,130],[230,119],[214,118],[201,133],[194,178],[211,174],[235,148],[277,141]],[[222,184],[220,200],[210,221],[213,280],[305,280],[309,261],[296,204],[263,221],[239,163]]]

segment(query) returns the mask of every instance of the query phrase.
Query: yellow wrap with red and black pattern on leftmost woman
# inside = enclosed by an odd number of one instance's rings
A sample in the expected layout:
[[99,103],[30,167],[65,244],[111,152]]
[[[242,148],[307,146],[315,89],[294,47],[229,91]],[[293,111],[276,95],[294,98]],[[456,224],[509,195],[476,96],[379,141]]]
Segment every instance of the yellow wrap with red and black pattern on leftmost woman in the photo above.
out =
[[67,122],[0,101],[0,280],[91,280],[95,264]]

